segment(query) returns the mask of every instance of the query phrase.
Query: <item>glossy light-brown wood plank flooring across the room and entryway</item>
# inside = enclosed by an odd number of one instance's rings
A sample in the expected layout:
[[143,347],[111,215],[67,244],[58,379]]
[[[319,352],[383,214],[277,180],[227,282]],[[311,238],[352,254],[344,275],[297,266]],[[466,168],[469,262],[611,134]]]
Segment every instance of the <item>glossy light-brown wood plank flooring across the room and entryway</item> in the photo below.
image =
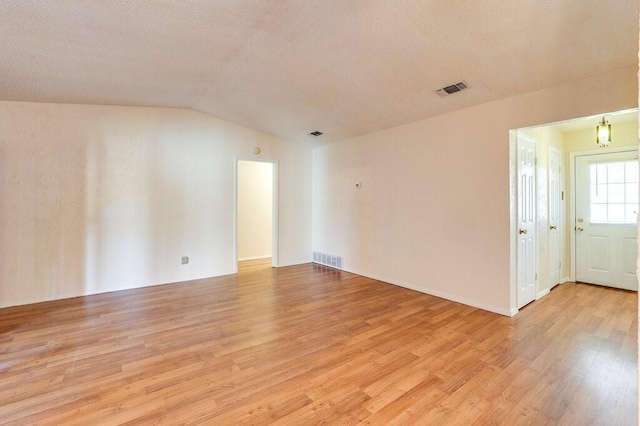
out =
[[507,318],[255,266],[1,309],[0,424],[637,424],[636,293],[564,284]]

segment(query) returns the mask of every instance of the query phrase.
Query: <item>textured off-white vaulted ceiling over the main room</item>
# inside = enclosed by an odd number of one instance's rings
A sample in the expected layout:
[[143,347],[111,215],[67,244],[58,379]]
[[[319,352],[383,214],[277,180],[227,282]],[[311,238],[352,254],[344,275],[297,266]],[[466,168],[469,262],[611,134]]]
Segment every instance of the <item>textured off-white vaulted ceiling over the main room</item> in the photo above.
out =
[[193,108],[317,144],[635,66],[638,2],[15,0],[0,40],[1,100]]

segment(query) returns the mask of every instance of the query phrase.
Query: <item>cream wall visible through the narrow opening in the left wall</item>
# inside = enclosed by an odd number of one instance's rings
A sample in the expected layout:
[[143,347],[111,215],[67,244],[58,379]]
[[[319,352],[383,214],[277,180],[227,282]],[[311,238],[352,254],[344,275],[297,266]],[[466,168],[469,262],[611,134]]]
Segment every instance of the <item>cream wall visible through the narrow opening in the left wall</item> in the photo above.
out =
[[238,260],[271,257],[273,163],[238,161]]

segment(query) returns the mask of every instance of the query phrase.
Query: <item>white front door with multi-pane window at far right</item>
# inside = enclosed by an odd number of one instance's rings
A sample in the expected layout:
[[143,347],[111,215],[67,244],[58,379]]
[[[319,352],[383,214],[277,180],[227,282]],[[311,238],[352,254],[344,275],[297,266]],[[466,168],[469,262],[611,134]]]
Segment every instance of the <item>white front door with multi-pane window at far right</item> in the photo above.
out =
[[636,151],[575,157],[576,281],[637,290]]

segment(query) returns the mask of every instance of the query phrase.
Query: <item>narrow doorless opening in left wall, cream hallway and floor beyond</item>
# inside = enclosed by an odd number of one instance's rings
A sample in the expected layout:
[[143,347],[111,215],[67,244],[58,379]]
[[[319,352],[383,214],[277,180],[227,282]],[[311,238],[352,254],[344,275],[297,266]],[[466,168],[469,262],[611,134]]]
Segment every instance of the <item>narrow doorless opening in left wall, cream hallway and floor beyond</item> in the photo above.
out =
[[277,162],[236,160],[236,272],[278,266],[277,187]]

